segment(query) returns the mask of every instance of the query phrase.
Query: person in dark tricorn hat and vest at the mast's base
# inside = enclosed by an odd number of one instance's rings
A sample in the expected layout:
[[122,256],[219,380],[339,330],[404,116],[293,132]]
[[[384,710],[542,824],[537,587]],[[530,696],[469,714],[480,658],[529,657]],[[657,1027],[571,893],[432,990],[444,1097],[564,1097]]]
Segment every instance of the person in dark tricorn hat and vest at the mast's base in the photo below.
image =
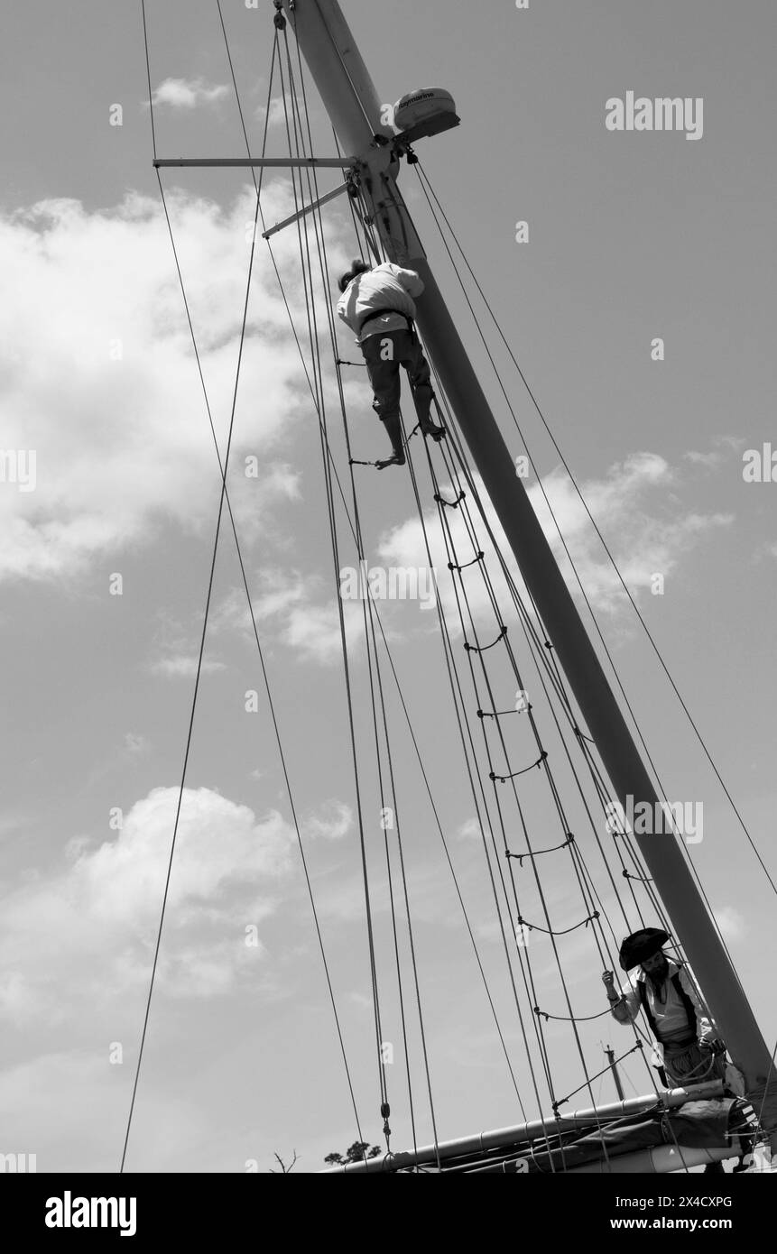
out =
[[663,952],[668,940],[668,933],[659,928],[641,928],[625,938],[620,966],[625,972],[639,967],[639,972],[620,993],[613,972],[604,972],[613,1017],[625,1025],[645,1012],[664,1087],[724,1080],[726,1045],[685,968]]

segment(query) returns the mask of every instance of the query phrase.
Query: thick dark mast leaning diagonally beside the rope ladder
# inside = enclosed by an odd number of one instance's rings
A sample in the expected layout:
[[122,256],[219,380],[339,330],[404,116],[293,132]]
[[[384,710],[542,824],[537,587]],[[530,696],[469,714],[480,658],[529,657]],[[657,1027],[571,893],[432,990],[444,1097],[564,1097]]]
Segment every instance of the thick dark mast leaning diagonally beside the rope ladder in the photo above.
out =
[[[338,0],[282,0],[300,51],[344,152],[374,212],[387,255],[424,282],[417,322],[521,574],[596,744],[624,813],[640,803],[662,814],[653,780],[555,562],[507,445],[437,286],[397,187],[394,132]],[[629,803],[634,810],[629,810]],[[656,809],[658,808],[658,809]],[[719,940],[673,833],[634,835],[678,938],[764,1125],[777,1129],[777,1085],[766,1092],[771,1058],[751,1006]],[[763,1101],[763,1106],[761,1105]],[[777,1147],[777,1131],[773,1134]]]

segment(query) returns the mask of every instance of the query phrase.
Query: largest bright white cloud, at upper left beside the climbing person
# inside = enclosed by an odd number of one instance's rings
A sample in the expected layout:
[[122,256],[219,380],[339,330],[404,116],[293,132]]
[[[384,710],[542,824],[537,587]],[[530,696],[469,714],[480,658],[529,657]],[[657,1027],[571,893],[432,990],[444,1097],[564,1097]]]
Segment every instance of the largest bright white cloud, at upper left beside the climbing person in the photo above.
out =
[[[285,184],[265,212],[290,208]],[[255,198],[231,206],[168,193],[217,439],[225,448]],[[336,253],[336,248],[335,248]],[[275,243],[292,314],[301,317],[291,236]],[[56,579],[137,549],[162,527],[212,527],[218,469],[190,331],[157,199],[128,194],[110,211],[48,199],[0,217],[4,449],[35,450],[34,490],[0,493],[0,578]],[[324,322],[324,315],[321,314]],[[228,479],[241,534],[294,499],[299,475],[274,454],[310,398],[287,312],[261,245],[235,411]],[[250,474],[246,458],[259,474]]]

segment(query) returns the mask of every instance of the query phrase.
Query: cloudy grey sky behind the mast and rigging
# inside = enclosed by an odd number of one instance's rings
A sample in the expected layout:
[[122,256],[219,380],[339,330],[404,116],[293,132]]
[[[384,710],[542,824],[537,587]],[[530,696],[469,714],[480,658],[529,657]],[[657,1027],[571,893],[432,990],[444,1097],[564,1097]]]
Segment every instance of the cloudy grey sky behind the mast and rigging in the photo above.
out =
[[[242,0],[222,0],[222,11],[257,150],[272,8],[261,0],[256,10]],[[423,169],[774,877],[777,468],[774,483],[768,474],[758,482],[744,475],[748,450],[763,459],[774,431],[773,6],[761,0],[685,0],[682,6],[669,0],[530,0],[518,10],[507,0],[469,6],[394,0],[387,9],[363,0],[344,11],[382,99],[394,102],[428,85],[454,97],[461,127],[417,143]],[[216,4],[147,0],[146,14],[158,154],[241,155]],[[41,0],[14,6],[5,28],[0,1151],[36,1154],[39,1171],[110,1171],[121,1160],[138,1061],[221,477],[152,167],[141,5]],[[310,79],[306,87],[316,152],[331,154],[331,129]],[[608,129],[606,102],[625,100],[628,92],[702,99],[703,132],[688,139],[682,130]],[[121,125],[112,124],[119,115]],[[271,103],[269,153],[284,152],[280,115],[279,103]],[[245,171],[225,168],[164,171],[162,178],[223,449],[252,184]],[[334,172],[321,173],[321,191],[338,181]],[[528,448],[542,475],[667,795],[703,804],[703,839],[687,844],[687,855],[772,1048],[774,913],[766,875],[531,399],[488,329],[522,436],[516,430],[417,174],[407,166],[400,188],[510,453]],[[287,176],[269,173],[262,189],[267,223],[292,207]],[[324,214],[336,276],[355,252],[353,226],[341,201]],[[521,243],[518,222],[528,226]],[[274,237],[274,256],[305,344],[294,229]],[[466,286],[477,301],[472,282]],[[336,296],[334,286],[328,295]],[[323,326],[320,291],[316,300]],[[487,319],[481,324],[486,330]],[[664,344],[663,360],[653,360],[656,339]],[[358,360],[349,332],[340,334],[339,350]],[[309,351],[303,351],[309,365]],[[323,360],[333,459],[350,508],[325,340]],[[344,377],[354,456],[384,455],[385,436],[365,380],[355,369],[344,370]],[[550,1096],[533,1037],[533,998],[520,988],[527,1050],[510,986],[490,880],[497,859],[488,863],[483,853],[438,607],[471,716],[485,680],[476,670],[473,691],[472,655],[462,647],[467,637],[417,443],[412,449],[438,573],[437,602],[385,599],[377,608],[418,746],[417,755],[380,650],[434,1126],[439,1139],[452,1139],[549,1112]],[[452,493],[442,451],[432,456],[443,490]],[[336,598],[339,568],[354,566],[356,553],[339,505],[340,563],[333,564],[318,418],[261,240],[230,466],[230,500],[359,1127],[364,1140],[384,1145],[360,803],[382,1040],[393,1052],[385,1067],[392,1147],[409,1149],[387,845],[418,1144],[432,1140],[433,1121],[398,840],[379,823],[387,759],[382,752],[382,795],[363,603],[344,601],[359,796],[354,782]],[[246,474],[249,466],[256,473]],[[370,566],[424,568],[409,474],[354,469]],[[569,576],[533,474],[526,487]],[[485,494],[483,503],[498,539]],[[496,556],[476,512],[473,518],[570,824],[580,831],[582,856],[606,907],[603,932],[615,952],[613,939],[624,934],[624,925],[605,861],[586,829],[551,705],[539,691]],[[447,522],[466,561],[472,544],[461,514],[449,512]],[[663,591],[654,594],[656,574]],[[478,640],[491,641],[498,628],[485,587],[473,578],[468,588]],[[580,601],[576,588],[575,596]],[[585,609],[584,617],[590,626]],[[482,656],[497,709],[502,701],[512,709],[516,685],[506,651]],[[488,804],[496,815],[492,799],[498,796],[512,846],[526,848],[516,796],[531,848],[557,844],[559,816],[542,772],[520,777],[515,794],[492,784],[483,729],[473,721]],[[495,727],[485,730],[498,755]],[[506,736],[511,769],[530,764],[536,755],[528,721],[518,715]],[[601,818],[596,831],[604,840]],[[615,865],[611,851],[609,858]],[[506,874],[503,856],[498,865]],[[579,925],[585,910],[569,850],[542,861],[542,898],[528,864],[512,867],[523,918],[541,920],[544,899],[554,928],[577,925],[559,937],[561,967],[575,1014],[599,1013],[605,1008],[603,964],[595,929]],[[508,933],[515,914],[515,907],[505,910]],[[521,954],[511,935],[508,940],[516,973],[521,961],[531,962],[541,1008],[565,1014],[547,937],[531,930]],[[614,1100],[608,1076],[595,1080],[592,1092],[585,1087],[567,1022],[547,1021],[545,1032],[557,1097],[582,1085],[571,1107]],[[634,1043],[606,1018],[581,1025],[580,1037],[590,1076],[605,1066],[606,1045],[625,1052]],[[650,1087],[646,1065],[634,1056],[623,1073],[628,1095]],[[289,1161],[296,1152],[295,1171],[308,1172],[355,1139],[289,791],[233,537],[225,525],[127,1167],[265,1172],[276,1166],[275,1154]]]

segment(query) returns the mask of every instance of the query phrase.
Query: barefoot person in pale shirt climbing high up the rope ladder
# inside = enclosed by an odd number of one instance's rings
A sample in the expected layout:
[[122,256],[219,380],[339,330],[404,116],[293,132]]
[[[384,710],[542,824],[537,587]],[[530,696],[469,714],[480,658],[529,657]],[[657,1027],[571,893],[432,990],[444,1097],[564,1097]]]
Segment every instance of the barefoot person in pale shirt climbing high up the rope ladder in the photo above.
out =
[[413,325],[413,297],[423,292],[423,280],[414,270],[403,270],[390,261],[370,267],[356,260],[340,277],[338,287],[341,292],[338,315],[356,336],[374,393],[373,409],[392,441],[392,456],[375,465],[379,470],[404,465],[399,366],[404,366],[410,381],[422,433],[433,440],[446,434],[429,416],[434,395],[429,364]]

